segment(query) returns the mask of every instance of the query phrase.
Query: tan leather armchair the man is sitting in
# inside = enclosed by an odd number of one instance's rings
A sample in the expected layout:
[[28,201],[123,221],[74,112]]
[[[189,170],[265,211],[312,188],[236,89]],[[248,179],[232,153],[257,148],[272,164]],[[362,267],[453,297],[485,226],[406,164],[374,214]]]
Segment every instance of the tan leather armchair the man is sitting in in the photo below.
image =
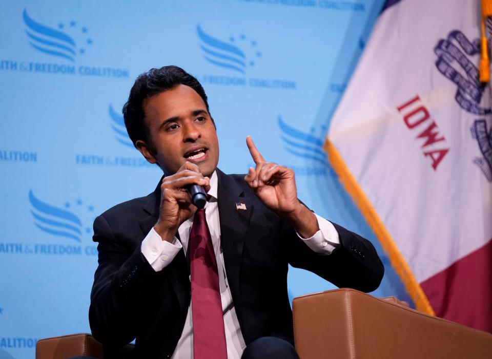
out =
[[[492,358],[492,334],[378,299],[355,289],[303,295],[293,301],[294,336],[301,359]],[[128,345],[112,356],[126,358]],[[36,359],[88,355],[103,359],[90,334],[39,340]]]

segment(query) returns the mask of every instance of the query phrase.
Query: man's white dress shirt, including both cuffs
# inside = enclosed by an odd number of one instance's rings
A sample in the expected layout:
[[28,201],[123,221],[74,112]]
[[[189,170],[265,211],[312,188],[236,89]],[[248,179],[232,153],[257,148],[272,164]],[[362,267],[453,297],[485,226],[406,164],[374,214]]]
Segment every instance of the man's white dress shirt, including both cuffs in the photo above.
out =
[[[229,359],[240,359],[245,348],[244,339],[242,337],[241,328],[237,319],[234,303],[232,302],[231,290],[227,281],[226,268],[222,248],[220,245],[220,222],[219,209],[217,205],[217,174],[214,172],[210,178],[210,195],[209,202],[205,205],[205,216],[212,237],[214,246],[215,258],[217,260],[217,268],[220,284],[220,299],[222,302],[222,310],[224,313],[224,329],[226,330],[226,345],[227,357]],[[332,223],[324,218],[316,215],[318,220],[319,230],[313,237],[304,239],[304,243],[313,251],[321,255],[329,255],[340,244],[338,232]],[[179,241],[174,237],[173,242],[163,241],[157,232],[152,229],[145,237],[141,244],[142,254],[150,263],[155,271],[165,268],[182,249],[187,254],[188,240],[190,237],[193,217],[183,222],[179,228]],[[165,325],[165,324],[164,324]],[[190,359],[193,358],[193,319],[191,311],[191,303],[186,316],[185,327],[178,341],[173,359]]]

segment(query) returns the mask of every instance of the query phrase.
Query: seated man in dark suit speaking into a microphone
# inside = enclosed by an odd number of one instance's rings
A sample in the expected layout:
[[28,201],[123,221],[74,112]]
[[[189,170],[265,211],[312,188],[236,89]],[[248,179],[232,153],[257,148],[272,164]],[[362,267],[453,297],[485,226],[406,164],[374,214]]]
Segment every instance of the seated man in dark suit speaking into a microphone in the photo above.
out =
[[[89,320],[107,348],[135,339],[139,358],[297,358],[289,264],[339,287],[379,286],[372,244],[304,206],[294,172],[265,161],[250,137],[255,168],[217,168],[215,122],[196,78],[152,69],[123,114],[135,147],[164,176],[147,197],[94,222]],[[192,204],[191,185],[204,188],[204,208]]]

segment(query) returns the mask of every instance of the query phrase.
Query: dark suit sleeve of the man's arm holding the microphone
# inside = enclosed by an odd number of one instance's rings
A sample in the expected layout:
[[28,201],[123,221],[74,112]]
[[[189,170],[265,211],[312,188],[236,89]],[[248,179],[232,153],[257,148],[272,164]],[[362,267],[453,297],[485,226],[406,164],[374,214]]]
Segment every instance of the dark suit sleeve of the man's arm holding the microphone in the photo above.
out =
[[98,267],[91,292],[89,323],[95,339],[122,346],[135,339],[139,308],[156,285],[155,272],[136,249],[126,247],[101,215],[94,221],[94,241],[98,242]]

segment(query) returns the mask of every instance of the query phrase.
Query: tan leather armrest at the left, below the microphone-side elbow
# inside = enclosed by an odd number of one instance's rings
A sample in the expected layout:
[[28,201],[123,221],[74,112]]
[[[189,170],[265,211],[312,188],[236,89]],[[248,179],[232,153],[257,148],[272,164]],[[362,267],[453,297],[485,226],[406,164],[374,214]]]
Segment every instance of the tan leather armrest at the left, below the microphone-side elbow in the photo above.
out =
[[36,359],[65,359],[78,355],[103,359],[103,346],[91,334],[85,333],[40,339],[36,343]]

